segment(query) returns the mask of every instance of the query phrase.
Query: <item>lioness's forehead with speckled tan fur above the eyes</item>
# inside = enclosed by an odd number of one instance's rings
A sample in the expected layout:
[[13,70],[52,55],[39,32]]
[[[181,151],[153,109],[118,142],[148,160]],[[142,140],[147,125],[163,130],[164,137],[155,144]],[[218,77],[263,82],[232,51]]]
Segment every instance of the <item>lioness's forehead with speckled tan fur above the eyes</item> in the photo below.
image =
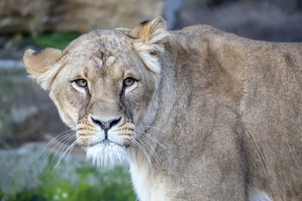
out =
[[[121,76],[130,63],[136,61],[132,50],[133,39],[119,31],[95,30],[72,41],[64,50],[69,71],[79,73],[84,69],[94,76]],[[81,72],[80,72],[81,73]]]

